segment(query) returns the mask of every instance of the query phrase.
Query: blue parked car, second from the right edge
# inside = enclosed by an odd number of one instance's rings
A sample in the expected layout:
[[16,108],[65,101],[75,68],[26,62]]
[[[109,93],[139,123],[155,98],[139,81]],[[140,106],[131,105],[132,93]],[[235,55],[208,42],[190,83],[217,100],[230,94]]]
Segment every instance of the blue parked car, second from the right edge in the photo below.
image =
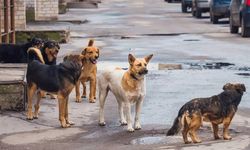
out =
[[218,23],[221,18],[229,17],[229,6],[231,0],[210,0],[210,20],[213,24]]

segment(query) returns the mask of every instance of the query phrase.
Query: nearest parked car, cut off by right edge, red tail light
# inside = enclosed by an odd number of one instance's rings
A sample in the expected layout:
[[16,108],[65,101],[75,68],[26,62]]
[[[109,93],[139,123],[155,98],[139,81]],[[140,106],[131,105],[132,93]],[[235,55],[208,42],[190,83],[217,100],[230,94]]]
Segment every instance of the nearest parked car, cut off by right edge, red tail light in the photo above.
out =
[[230,4],[230,32],[250,37],[250,0],[232,0]]

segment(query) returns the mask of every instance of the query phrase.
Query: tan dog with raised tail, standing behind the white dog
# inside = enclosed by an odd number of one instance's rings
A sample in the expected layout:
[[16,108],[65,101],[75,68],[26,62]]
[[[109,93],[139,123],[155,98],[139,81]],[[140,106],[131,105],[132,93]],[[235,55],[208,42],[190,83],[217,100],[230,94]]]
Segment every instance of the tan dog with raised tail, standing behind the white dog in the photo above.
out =
[[83,69],[79,82],[76,84],[76,102],[80,103],[80,82],[83,85],[82,98],[86,98],[86,85],[85,82],[90,82],[89,102],[95,103],[96,100],[96,73],[97,73],[97,59],[99,58],[99,49],[94,46],[94,40],[89,40],[88,47],[82,51],[85,57],[83,60]]

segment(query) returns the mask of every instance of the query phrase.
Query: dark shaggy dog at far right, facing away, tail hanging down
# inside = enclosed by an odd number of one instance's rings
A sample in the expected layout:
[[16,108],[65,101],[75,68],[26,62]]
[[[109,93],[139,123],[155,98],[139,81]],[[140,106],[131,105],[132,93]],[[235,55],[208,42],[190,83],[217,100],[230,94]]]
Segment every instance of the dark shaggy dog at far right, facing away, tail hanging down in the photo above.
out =
[[246,91],[244,84],[227,83],[223,92],[209,98],[196,98],[181,107],[173,126],[168,130],[167,136],[174,135],[183,127],[182,136],[186,144],[187,134],[193,143],[200,143],[196,131],[200,128],[202,121],[211,122],[215,139],[218,135],[218,125],[223,124],[223,138],[232,139],[228,133],[228,127],[235,115],[243,93]]

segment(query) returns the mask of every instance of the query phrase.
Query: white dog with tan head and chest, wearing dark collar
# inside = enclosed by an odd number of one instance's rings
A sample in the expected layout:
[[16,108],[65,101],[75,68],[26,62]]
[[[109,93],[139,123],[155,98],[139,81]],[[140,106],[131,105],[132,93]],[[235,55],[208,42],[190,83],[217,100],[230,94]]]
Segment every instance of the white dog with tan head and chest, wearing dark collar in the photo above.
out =
[[[127,130],[129,132],[134,131],[131,121],[131,105],[135,103],[135,129],[141,129],[140,111],[146,94],[145,75],[148,73],[147,64],[152,57],[153,54],[145,58],[135,58],[135,56],[129,54],[128,62],[130,66],[128,70],[115,69],[106,70],[101,73],[98,78],[100,126],[105,126],[104,103],[110,90],[115,95],[118,102],[121,125],[128,125]],[[125,116],[123,112],[125,112]]]

